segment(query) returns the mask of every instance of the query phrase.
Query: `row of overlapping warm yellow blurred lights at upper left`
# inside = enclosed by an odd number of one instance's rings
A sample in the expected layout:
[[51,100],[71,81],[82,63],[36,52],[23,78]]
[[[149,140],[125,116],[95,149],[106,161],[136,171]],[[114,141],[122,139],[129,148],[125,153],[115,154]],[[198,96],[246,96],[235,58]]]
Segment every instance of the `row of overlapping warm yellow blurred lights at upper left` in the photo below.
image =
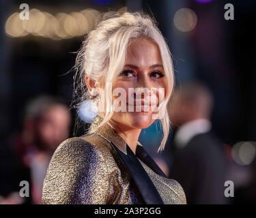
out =
[[52,40],[70,39],[89,33],[101,18],[102,13],[91,8],[56,15],[33,8],[29,10],[29,20],[20,20],[18,12],[11,14],[5,22],[5,34],[9,37],[31,34]]

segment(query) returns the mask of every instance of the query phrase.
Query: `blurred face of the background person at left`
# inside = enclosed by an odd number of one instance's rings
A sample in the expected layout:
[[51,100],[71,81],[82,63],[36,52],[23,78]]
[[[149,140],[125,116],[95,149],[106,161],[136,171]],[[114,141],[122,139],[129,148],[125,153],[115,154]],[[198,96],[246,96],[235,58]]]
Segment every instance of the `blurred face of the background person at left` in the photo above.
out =
[[68,138],[70,121],[70,113],[65,106],[48,107],[38,123],[40,143],[47,149],[55,150],[63,140]]

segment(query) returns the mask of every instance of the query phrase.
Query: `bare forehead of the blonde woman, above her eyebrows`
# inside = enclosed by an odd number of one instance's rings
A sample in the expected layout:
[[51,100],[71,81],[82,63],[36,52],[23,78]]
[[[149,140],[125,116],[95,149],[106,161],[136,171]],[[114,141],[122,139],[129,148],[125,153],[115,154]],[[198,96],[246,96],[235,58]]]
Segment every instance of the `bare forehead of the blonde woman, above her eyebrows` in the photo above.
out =
[[126,63],[153,65],[162,63],[158,45],[152,40],[131,40],[126,52]]

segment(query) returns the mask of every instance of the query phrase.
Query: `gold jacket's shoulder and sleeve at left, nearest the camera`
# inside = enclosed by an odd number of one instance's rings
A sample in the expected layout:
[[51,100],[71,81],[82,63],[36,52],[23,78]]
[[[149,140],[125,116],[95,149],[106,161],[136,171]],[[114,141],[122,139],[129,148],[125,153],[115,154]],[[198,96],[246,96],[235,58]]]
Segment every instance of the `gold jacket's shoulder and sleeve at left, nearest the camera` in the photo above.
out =
[[[109,168],[108,149],[91,138],[75,137],[63,141],[56,149],[44,178],[44,204],[103,204],[107,198]],[[100,181],[100,198],[95,199],[96,181]]]

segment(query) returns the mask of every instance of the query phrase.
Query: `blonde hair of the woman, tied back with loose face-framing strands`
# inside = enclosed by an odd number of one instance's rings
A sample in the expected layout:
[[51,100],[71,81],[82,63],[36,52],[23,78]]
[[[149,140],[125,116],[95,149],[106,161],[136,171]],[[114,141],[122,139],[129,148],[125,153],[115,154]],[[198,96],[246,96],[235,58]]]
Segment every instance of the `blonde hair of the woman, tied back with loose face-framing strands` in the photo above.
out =
[[[124,12],[123,14],[113,12],[111,17],[98,22],[94,30],[85,38],[76,57],[77,74],[74,78],[74,97],[79,102],[89,98],[89,91],[85,84],[85,73],[96,82],[112,82],[124,68],[126,49],[130,40],[137,38],[146,38],[158,44],[167,86],[170,90],[169,96],[165,97],[164,118],[160,119],[163,138],[158,151],[162,151],[169,135],[170,120],[167,103],[173,91],[174,74],[171,52],[165,38],[156,26],[156,22],[150,16],[141,12]],[[111,92],[111,90],[106,90],[106,92]],[[106,96],[111,94],[106,93]],[[113,108],[106,110],[105,117],[97,128],[109,122],[112,115]],[[88,134],[91,134],[90,130]]]

